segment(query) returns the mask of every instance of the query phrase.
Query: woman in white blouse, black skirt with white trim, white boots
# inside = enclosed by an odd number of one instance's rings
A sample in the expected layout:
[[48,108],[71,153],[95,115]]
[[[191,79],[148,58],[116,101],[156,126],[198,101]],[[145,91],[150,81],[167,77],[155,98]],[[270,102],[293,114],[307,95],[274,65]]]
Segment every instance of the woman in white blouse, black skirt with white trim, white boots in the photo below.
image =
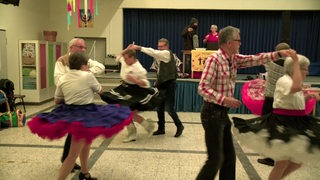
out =
[[[122,84],[115,89],[103,92],[101,99],[109,104],[119,103],[130,106],[133,111],[133,121],[139,123],[150,136],[154,130],[154,124],[150,119],[145,119],[139,115],[139,111],[152,110],[158,104],[159,91],[150,88],[147,79],[147,71],[136,59],[136,51],[124,49],[117,60],[121,63],[120,76]],[[124,143],[136,141],[137,129],[134,122],[127,126],[128,136],[123,140]]]

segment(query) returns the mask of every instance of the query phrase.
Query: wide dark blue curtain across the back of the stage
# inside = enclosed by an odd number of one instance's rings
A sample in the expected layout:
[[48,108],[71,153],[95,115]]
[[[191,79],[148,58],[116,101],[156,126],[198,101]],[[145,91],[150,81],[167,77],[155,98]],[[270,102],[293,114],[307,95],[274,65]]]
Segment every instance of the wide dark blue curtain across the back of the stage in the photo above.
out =
[[[242,54],[273,51],[281,40],[281,11],[124,9],[124,47],[134,41],[157,48],[158,40],[167,38],[171,50],[182,59],[181,32],[191,17],[199,20],[200,46],[203,46],[202,40],[211,24],[218,28],[228,25],[240,28]],[[150,68],[151,57],[138,53],[138,59],[146,69]],[[265,72],[262,66],[238,71],[244,74],[259,72]]]

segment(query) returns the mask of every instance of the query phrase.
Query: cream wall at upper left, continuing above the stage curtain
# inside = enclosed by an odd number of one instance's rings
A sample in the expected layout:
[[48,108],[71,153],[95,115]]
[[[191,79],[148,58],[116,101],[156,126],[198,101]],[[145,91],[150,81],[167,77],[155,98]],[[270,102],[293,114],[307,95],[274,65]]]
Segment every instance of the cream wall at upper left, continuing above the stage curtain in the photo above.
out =
[[[320,10],[319,0],[99,0],[98,16],[93,28],[78,28],[71,17],[67,29],[65,0],[20,0],[19,7],[0,4],[0,29],[8,39],[8,78],[19,89],[18,40],[43,39],[43,30],[58,32],[57,41],[68,42],[74,36],[106,37],[107,53],[121,51],[123,42],[123,8],[163,9],[242,9],[242,10]],[[83,5],[82,5],[83,7]]]

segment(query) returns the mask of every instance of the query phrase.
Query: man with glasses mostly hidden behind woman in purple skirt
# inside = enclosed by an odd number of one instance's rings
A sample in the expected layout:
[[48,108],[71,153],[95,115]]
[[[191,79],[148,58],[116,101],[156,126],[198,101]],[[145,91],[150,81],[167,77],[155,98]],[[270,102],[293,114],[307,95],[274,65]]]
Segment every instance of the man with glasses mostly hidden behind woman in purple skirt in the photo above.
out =
[[[73,38],[69,41],[68,44],[68,53],[59,57],[56,61],[55,67],[54,67],[54,82],[55,85],[59,82],[59,78],[64,75],[65,73],[70,71],[70,65],[69,65],[69,56],[70,54],[74,52],[85,52],[87,50],[87,47],[85,45],[85,41],[81,38]],[[101,74],[105,70],[105,66],[101,64],[98,61],[89,59],[88,60],[88,71],[92,72],[93,74]],[[71,143],[71,136],[68,135],[63,147],[63,153],[61,157],[61,162],[65,160],[65,158],[68,156],[69,149],[70,149],[70,143]],[[74,169],[80,169],[80,166],[78,164],[75,164]]]

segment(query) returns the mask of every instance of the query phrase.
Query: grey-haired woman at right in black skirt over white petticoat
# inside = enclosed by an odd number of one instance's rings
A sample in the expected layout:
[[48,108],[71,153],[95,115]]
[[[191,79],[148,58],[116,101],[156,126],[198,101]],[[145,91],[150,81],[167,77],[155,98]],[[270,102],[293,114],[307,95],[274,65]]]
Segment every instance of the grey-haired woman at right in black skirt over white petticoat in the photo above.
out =
[[294,50],[290,56],[284,63],[285,75],[276,83],[272,113],[249,120],[232,118],[241,143],[275,160],[269,180],[283,179],[320,156],[320,120],[305,111],[305,102],[319,101],[320,96],[302,90],[310,62]]

